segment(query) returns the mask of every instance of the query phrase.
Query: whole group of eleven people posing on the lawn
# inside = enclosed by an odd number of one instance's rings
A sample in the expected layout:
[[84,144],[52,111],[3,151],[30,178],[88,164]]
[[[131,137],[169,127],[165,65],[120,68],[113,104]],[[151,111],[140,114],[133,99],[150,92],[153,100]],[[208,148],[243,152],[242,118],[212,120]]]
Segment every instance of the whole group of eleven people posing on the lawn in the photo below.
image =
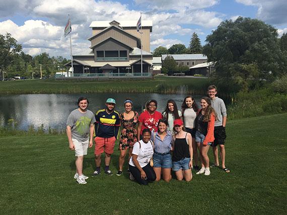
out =
[[113,174],[109,165],[120,125],[118,176],[122,175],[127,152],[129,178],[140,184],[147,185],[161,178],[170,181],[171,170],[178,180],[190,181],[191,169],[197,171],[196,174],[210,175],[207,155],[210,146],[214,154],[214,164],[211,166],[219,167],[219,146],[222,168],[225,172],[230,172],[225,166],[226,107],[224,101],[216,96],[216,86],[210,85],[207,92],[209,97],[201,98],[200,109],[192,96],[186,96],[181,106],[182,111],[170,99],[164,112],[160,113],[157,111],[157,101],[152,99],[146,103],[145,110],[140,115],[132,110],[133,102],[129,98],[124,101],[123,113],[117,113],[114,110],[115,99],[108,98],[106,108],[99,110],[96,115],[87,110],[88,99],[79,98],[79,108],[70,113],[66,123],[69,148],[75,150],[76,154],[74,178],[80,184],[87,183],[89,177],[83,174],[83,158],[87,155],[88,148],[93,146],[93,136],[96,164],[93,176],[101,173],[103,152],[104,172]]

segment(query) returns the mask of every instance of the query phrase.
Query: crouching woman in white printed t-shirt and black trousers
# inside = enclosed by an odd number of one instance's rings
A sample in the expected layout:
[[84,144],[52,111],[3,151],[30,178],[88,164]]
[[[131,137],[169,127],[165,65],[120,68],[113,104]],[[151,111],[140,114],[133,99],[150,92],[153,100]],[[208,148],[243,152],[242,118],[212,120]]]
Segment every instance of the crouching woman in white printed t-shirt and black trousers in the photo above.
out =
[[128,162],[130,170],[130,179],[138,183],[147,185],[156,180],[156,173],[150,165],[154,149],[151,139],[150,129],[143,129],[142,140],[133,145],[132,157]]

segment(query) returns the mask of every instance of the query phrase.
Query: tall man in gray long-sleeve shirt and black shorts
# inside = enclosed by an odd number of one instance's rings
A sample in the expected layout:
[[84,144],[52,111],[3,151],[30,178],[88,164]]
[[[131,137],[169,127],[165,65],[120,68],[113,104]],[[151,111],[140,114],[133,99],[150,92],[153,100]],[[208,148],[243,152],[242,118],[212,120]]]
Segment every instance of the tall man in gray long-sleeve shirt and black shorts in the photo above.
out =
[[[222,169],[225,172],[230,172],[228,168],[225,166],[225,139],[226,132],[225,126],[227,121],[227,113],[226,106],[224,101],[216,96],[217,87],[215,85],[208,86],[208,95],[211,101],[211,106],[217,114],[217,121],[214,124],[214,142],[212,144],[212,150],[214,155],[214,164],[213,166],[219,166],[219,158],[218,158],[218,148],[220,148],[220,157],[222,161]],[[212,166],[212,165],[211,165]]]

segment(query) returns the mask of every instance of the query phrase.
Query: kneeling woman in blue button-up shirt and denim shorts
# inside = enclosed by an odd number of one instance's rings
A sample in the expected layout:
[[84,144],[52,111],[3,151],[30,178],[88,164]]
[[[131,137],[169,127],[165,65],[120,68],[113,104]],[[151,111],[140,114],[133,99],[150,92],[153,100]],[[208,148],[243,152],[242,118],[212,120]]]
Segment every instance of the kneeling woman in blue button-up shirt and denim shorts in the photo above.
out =
[[163,179],[170,181],[171,179],[171,146],[172,134],[167,131],[168,123],[165,119],[159,120],[158,132],[152,133],[151,140],[154,142],[154,171],[157,175],[156,181],[161,180],[163,171]]

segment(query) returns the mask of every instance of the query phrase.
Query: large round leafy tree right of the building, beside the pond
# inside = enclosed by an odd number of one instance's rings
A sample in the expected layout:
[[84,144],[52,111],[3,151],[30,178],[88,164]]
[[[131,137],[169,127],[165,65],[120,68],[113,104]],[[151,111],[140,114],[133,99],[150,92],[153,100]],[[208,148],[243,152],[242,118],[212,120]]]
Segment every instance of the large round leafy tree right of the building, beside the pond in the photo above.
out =
[[203,54],[216,62],[215,76],[244,89],[249,80],[272,80],[284,71],[277,30],[257,19],[222,22],[206,37]]

